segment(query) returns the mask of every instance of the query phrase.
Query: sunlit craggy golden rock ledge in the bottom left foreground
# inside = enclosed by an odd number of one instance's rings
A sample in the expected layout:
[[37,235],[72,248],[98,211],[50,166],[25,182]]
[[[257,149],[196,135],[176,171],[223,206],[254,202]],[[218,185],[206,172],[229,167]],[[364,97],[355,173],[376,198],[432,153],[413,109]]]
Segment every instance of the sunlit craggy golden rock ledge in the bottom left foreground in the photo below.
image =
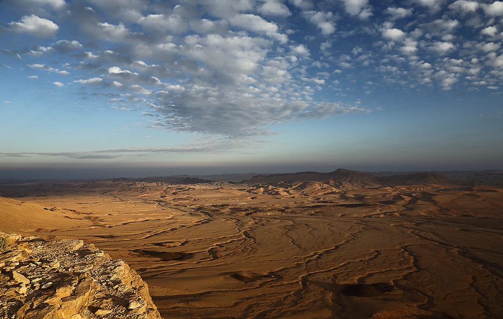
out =
[[2,238],[0,318],[160,319],[140,276],[94,245],[0,232]]

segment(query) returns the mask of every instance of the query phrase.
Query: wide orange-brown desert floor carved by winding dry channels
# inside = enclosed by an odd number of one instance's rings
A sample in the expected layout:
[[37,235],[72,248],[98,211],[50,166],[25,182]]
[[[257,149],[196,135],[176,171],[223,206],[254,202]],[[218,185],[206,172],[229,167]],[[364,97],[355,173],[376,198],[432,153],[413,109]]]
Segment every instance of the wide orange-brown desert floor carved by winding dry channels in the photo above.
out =
[[0,196],[0,230],[94,243],[165,318],[503,317],[503,187],[100,181]]

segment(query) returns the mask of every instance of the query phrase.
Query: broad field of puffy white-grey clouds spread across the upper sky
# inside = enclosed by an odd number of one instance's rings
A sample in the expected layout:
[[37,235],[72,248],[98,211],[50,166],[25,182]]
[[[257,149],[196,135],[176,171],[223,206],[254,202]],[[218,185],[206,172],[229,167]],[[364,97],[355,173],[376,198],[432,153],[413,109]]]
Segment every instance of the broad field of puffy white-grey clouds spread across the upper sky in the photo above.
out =
[[365,84],[369,96],[385,84],[501,87],[503,76],[499,1],[19,1],[41,10],[23,9],[2,34],[58,36],[0,50],[38,74],[29,78],[86,86],[82,99],[141,110],[173,132],[259,138],[278,123],[367,113],[354,101],[359,74],[381,81]]

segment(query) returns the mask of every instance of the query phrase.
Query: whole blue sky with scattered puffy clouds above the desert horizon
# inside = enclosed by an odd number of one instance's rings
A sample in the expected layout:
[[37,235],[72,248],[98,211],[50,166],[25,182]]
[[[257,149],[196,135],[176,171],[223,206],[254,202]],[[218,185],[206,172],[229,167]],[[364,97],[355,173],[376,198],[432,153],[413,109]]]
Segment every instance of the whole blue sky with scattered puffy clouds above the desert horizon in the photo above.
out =
[[3,0],[0,178],[502,169],[503,2]]

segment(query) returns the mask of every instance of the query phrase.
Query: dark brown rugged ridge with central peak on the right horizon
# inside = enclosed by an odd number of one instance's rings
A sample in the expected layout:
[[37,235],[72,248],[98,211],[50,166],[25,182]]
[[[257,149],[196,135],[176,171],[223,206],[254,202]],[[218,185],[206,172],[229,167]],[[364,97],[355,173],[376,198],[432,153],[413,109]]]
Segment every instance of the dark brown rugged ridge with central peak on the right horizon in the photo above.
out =
[[286,174],[257,175],[250,184],[324,182],[344,188],[379,187],[397,185],[441,185],[455,186],[456,183],[431,172],[406,175],[375,176],[369,173],[339,168],[329,173],[298,172]]

